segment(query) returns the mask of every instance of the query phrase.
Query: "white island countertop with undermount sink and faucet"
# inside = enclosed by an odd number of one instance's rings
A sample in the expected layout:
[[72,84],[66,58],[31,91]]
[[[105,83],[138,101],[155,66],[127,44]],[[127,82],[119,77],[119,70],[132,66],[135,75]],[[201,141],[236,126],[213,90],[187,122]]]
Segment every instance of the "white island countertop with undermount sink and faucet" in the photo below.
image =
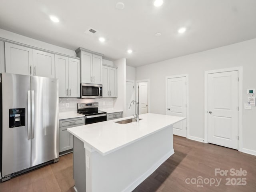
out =
[[139,117],[142,118],[139,122],[116,123],[132,118],[126,117],[68,128],[68,132],[83,141],[88,150],[95,150],[104,156],[185,119],[152,113],[142,114]]

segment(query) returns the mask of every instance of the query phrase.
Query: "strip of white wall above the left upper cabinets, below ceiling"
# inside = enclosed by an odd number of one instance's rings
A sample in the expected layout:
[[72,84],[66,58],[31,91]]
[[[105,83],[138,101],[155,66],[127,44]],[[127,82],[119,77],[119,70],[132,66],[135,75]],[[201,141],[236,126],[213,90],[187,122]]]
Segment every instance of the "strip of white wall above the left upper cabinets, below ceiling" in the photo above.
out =
[[6,31],[3,29],[0,29],[0,38],[4,38],[6,40],[11,40],[11,41],[15,41],[15,42],[22,43],[25,45],[33,46],[36,48],[41,48],[41,49],[57,52],[60,54],[65,54],[68,56],[76,57],[76,52],[74,50],[70,50],[70,49],[66,49],[63,47],[56,46],[56,45],[52,45],[52,44],[49,44],[46,42],[32,39],[32,38],[29,38],[29,37],[26,37],[23,35],[19,35],[19,34],[10,32],[10,31]]

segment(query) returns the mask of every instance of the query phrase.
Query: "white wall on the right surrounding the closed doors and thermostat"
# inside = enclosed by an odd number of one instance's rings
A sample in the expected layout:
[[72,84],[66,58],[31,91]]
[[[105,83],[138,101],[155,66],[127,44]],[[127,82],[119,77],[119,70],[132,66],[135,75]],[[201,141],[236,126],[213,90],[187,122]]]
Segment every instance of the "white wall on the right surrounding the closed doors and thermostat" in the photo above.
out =
[[[188,135],[204,138],[204,71],[243,66],[243,102],[246,89],[256,88],[256,39],[190,54],[136,68],[136,80],[150,79],[151,112],[165,114],[165,77],[188,74]],[[243,109],[243,148],[256,155],[256,107]]]

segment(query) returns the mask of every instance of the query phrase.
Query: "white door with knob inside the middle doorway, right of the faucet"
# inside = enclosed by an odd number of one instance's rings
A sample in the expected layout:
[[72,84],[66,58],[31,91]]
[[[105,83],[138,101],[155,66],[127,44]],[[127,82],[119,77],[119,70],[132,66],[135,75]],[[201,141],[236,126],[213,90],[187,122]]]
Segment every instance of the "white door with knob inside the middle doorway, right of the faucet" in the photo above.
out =
[[139,114],[148,113],[148,84],[139,83]]

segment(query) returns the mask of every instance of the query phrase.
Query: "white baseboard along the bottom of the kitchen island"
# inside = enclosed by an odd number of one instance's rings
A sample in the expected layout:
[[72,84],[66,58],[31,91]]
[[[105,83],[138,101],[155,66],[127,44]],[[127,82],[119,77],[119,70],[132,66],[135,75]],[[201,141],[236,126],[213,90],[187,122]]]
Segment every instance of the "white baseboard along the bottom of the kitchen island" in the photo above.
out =
[[132,184],[126,187],[122,192],[131,192],[134,190],[139,184],[141,184],[148,176],[150,176],[160,165],[162,165],[170,156],[174,154],[174,150],[172,149],[170,152],[165,154],[158,162],[156,162],[149,170],[147,170],[142,176],[136,179]]

